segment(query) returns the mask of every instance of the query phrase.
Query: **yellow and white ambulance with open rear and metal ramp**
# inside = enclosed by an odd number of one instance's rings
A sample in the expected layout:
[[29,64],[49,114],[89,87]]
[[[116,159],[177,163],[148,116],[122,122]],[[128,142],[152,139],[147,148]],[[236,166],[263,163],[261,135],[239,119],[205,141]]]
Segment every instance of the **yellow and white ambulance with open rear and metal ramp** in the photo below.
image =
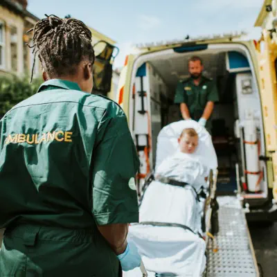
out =
[[[233,33],[142,44],[139,53],[127,55],[120,73],[116,101],[127,115],[141,161],[139,197],[155,167],[159,132],[181,119],[174,96],[177,82],[189,78],[188,59],[201,57],[204,75],[217,84],[220,100],[215,102],[211,130],[219,163],[217,199],[221,205],[224,197],[233,197],[240,207],[234,213],[241,221],[226,230],[231,217],[219,208],[223,233],[215,240],[226,250],[220,256],[226,263],[211,262],[215,256],[208,256],[209,276],[259,276],[247,220],[266,224],[277,220],[276,8],[276,0],[265,0],[256,21],[262,27],[259,40]],[[228,237],[230,232],[233,236]],[[251,265],[242,265],[239,273],[235,270],[245,260],[245,251]],[[231,275],[220,275],[231,261]]]

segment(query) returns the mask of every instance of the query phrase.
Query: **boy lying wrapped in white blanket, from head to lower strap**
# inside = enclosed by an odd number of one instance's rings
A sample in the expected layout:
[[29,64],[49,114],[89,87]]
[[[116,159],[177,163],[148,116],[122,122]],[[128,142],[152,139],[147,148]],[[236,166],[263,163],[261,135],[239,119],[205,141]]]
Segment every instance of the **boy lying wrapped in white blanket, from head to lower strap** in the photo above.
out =
[[179,149],[157,167],[155,181],[145,191],[140,222],[182,224],[202,233],[199,192],[206,187],[208,168],[195,154],[198,146],[195,129],[184,129],[178,141]]

